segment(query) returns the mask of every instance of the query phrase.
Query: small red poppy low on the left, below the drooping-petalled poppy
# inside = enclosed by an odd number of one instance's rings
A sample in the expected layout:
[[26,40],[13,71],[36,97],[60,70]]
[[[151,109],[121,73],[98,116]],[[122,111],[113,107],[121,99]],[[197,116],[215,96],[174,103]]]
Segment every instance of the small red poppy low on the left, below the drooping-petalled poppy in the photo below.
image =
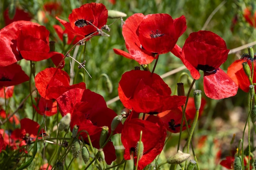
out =
[[[35,98],[36,102],[37,99]],[[33,105],[40,115],[52,116],[57,113],[57,102],[40,97],[37,106]]]

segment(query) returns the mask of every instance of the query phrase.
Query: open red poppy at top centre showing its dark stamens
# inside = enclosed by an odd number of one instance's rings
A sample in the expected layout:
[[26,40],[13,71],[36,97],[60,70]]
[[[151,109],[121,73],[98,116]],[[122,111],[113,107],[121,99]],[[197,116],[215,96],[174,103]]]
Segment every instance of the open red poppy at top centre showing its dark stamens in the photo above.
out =
[[173,18],[165,13],[135,13],[123,25],[122,34],[129,53],[114,49],[115,53],[136,60],[139,64],[149,64],[155,54],[168,53],[178,38],[186,30],[184,16]]

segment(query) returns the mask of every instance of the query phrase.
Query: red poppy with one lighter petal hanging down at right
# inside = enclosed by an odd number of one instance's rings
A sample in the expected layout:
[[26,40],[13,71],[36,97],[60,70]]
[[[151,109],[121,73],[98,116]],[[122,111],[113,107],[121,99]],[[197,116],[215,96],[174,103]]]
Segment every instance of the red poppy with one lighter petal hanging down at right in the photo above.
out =
[[182,49],[175,45],[171,52],[182,60],[194,79],[199,79],[199,70],[204,71],[204,93],[207,97],[223,99],[236,95],[238,86],[219,68],[227,60],[229,49],[215,33],[191,33]]

